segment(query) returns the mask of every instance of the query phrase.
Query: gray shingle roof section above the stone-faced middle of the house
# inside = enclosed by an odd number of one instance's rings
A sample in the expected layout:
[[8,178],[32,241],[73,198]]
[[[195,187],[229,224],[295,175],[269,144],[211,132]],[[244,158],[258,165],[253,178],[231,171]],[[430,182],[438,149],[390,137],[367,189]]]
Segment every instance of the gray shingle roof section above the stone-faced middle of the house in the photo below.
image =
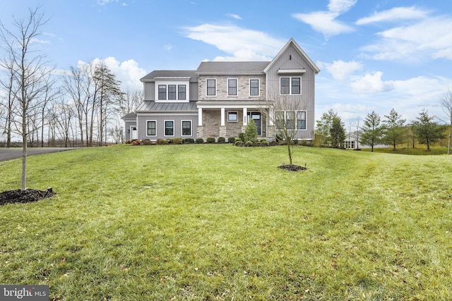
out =
[[203,61],[197,73],[204,74],[256,74],[263,73],[269,61]]

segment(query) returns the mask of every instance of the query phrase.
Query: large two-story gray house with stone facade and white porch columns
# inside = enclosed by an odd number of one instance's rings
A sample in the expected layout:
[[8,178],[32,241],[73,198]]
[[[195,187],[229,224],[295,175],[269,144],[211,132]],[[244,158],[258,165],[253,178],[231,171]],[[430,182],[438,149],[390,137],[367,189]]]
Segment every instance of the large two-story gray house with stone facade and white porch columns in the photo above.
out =
[[[296,139],[314,139],[319,68],[290,39],[272,61],[203,61],[196,70],[154,70],[141,78],[144,100],[124,116],[126,140],[237,137],[252,118],[273,140],[273,116],[296,119]],[[280,99],[299,104],[277,109]]]

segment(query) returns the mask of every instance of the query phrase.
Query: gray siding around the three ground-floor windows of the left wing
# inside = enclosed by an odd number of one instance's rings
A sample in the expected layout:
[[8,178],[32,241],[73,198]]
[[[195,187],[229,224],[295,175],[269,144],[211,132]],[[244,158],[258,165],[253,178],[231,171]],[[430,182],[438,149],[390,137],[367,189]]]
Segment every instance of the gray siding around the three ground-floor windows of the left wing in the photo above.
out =
[[[149,140],[157,140],[158,138],[162,139],[171,139],[171,138],[193,138],[196,139],[196,125],[198,125],[198,114],[197,113],[179,113],[179,114],[146,114],[146,115],[138,115],[137,117],[138,123],[138,139],[149,139]],[[148,136],[148,125],[147,121],[157,121],[156,123],[156,132],[157,136]],[[174,121],[174,135],[165,136],[165,121]],[[191,121],[191,135],[190,136],[182,136],[182,121]]]

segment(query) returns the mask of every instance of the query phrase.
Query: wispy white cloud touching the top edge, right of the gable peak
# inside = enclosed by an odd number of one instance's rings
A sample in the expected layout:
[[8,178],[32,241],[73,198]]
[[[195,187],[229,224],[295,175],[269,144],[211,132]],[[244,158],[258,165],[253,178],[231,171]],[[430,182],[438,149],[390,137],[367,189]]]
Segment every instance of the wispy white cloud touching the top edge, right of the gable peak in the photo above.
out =
[[294,13],[292,17],[311,25],[312,29],[323,33],[326,38],[339,35],[344,32],[352,32],[354,29],[338,20],[338,16],[352,8],[357,0],[330,0],[328,11],[314,11],[313,13]]

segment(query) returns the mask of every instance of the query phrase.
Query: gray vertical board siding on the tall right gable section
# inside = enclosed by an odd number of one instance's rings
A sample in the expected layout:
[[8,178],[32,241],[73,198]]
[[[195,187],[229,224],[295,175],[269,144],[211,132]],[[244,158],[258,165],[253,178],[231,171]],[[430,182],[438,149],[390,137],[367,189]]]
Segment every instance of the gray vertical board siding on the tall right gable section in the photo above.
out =
[[[278,74],[278,69],[306,69],[306,73],[302,74]],[[315,75],[309,63],[299,54],[297,49],[290,45],[283,54],[273,63],[267,70],[267,94],[270,96],[280,95],[280,77],[300,76],[302,78],[302,95],[290,96],[290,98],[299,99],[302,105],[299,106],[302,111],[307,112],[306,130],[299,130],[297,139],[314,139],[315,126]],[[271,97],[271,96],[270,96]],[[270,98],[269,97],[269,98]]]

